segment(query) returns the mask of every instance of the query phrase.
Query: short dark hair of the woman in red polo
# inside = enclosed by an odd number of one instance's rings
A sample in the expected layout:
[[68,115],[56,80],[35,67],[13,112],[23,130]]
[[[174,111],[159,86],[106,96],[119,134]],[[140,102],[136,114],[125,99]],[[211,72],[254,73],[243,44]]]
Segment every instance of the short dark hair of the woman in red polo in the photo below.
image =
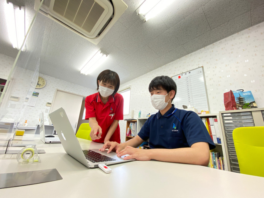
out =
[[97,90],[99,89],[99,84],[98,84],[98,80],[99,81],[102,81],[104,83],[109,83],[111,85],[114,85],[115,87],[115,91],[114,93],[112,94],[113,96],[116,94],[116,92],[118,91],[119,89],[119,86],[120,86],[120,79],[119,79],[119,76],[116,72],[114,71],[111,71],[111,70],[104,70],[102,71],[98,77],[97,77],[97,80],[96,80],[96,83],[97,83]]

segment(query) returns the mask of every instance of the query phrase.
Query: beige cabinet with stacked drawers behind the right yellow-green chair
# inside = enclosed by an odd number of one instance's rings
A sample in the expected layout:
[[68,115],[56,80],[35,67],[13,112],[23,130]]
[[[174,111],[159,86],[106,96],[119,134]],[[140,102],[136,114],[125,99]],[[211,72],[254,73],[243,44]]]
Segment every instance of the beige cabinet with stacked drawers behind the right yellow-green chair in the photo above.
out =
[[232,111],[220,111],[222,128],[222,145],[227,155],[228,170],[240,173],[238,159],[233,141],[233,130],[238,127],[264,126],[264,108],[239,109]]

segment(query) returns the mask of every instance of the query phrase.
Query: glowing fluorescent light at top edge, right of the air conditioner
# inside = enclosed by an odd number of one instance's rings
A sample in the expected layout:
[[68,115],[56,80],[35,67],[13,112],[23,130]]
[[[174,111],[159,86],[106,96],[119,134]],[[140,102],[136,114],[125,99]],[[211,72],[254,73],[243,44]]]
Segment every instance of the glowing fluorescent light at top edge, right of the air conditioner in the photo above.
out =
[[148,21],[148,19],[163,11],[173,1],[174,0],[145,0],[138,9],[136,9],[136,13],[141,20]]

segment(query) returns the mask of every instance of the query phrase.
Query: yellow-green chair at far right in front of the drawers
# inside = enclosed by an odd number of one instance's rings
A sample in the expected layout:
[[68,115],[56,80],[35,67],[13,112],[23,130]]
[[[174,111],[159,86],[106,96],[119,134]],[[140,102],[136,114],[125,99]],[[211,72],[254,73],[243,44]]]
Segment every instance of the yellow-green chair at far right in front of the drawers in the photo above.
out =
[[233,140],[240,172],[264,177],[264,126],[236,128]]

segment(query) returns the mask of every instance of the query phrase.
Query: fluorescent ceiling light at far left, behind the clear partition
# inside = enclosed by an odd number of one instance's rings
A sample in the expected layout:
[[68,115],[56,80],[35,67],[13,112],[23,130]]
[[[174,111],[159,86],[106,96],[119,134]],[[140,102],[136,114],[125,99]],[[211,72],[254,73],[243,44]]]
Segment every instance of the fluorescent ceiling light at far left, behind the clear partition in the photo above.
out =
[[12,3],[10,0],[7,0],[6,3],[5,16],[8,36],[13,48],[20,49],[25,39],[25,6]]

